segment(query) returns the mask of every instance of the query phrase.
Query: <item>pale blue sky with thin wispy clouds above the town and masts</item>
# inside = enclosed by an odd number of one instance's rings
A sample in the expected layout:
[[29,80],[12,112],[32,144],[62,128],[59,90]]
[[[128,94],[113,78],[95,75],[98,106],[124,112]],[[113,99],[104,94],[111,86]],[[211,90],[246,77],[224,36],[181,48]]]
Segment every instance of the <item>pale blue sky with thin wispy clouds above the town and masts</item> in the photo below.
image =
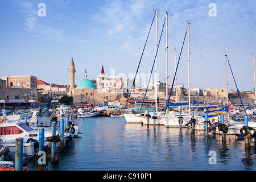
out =
[[[39,16],[39,3],[46,16]],[[216,16],[209,16],[210,3]],[[253,56],[256,1],[79,1],[1,0],[0,77],[33,75],[55,84],[69,84],[69,63],[75,62],[75,84],[105,73],[135,73],[155,10],[158,40],[168,18],[168,84],[175,71],[174,48],[180,53],[187,21],[191,22],[191,88],[225,88],[225,54],[240,90],[254,88]],[[158,52],[159,80],[166,78],[166,31]],[[139,74],[150,73],[155,56],[155,22]],[[188,84],[188,39],[177,71],[178,84]],[[229,90],[236,90],[228,69]]]

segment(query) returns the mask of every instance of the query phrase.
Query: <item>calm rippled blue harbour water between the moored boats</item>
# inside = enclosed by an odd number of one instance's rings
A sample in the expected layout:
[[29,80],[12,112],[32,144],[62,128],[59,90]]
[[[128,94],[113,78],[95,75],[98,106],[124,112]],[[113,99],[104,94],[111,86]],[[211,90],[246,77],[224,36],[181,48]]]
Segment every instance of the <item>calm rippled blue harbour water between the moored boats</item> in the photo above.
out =
[[[126,123],[124,117],[79,118],[79,130],[82,134],[69,142],[67,150],[60,154],[60,162],[48,162],[48,171],[256,169],[255,147],[245,148],[244,140],[235,140],[234,136],[222,141],[221,135],[142,126]],[[37,170],[33,160],[27,167]]]

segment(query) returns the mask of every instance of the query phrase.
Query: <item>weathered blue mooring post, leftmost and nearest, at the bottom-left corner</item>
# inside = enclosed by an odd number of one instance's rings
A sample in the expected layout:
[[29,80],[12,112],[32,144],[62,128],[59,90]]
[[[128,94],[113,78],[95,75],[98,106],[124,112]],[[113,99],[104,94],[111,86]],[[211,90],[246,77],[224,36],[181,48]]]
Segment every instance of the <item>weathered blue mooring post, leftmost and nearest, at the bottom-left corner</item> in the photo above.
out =
[[23,138],[16,138],[15,140],[15,171],[22,171],[23,169]]

